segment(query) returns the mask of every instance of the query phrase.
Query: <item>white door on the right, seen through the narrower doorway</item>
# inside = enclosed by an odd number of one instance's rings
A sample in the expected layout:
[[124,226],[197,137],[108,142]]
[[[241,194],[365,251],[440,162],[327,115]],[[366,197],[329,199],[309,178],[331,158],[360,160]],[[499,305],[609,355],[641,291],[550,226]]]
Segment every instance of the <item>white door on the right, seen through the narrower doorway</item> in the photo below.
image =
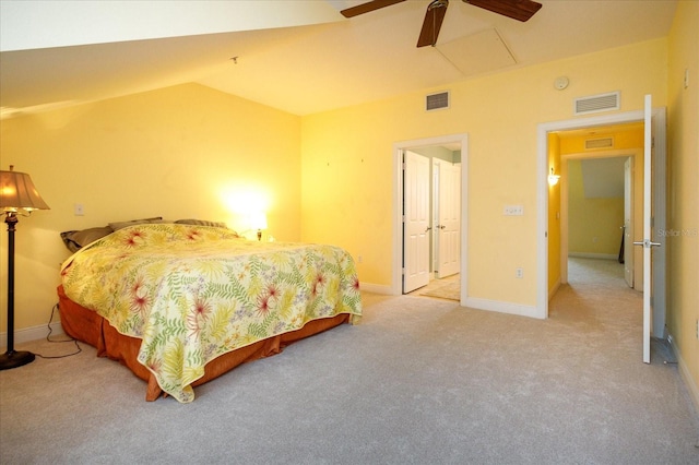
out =
[[435,228],[439,241],[437,277],[459,273],[461,269],[461,164],[440,163],[439,223]]

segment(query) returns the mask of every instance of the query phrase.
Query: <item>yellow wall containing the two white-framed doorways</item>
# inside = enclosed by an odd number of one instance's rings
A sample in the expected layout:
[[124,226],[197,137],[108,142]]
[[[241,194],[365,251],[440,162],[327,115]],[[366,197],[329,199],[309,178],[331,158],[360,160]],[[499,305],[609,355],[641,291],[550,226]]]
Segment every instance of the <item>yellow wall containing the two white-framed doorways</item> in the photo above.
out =
[[[303,239],[332,239],[353,254],[364,283],[391,285],[392,146],[467,133],[469,295],[536,301],[536,129],[572,118],[574,97],[621,91],[621,111],[652,93],[666,105],[667,41],[657,39],[455,83],[451,108],[426,112],[430,91],[305,117]],[[565,91],[554,80],[567,75]],[[464,158],[465,159],[465,158]],[[505,217],[509,204],[524,216]],[[514,277],[523,267],[524,278]]]

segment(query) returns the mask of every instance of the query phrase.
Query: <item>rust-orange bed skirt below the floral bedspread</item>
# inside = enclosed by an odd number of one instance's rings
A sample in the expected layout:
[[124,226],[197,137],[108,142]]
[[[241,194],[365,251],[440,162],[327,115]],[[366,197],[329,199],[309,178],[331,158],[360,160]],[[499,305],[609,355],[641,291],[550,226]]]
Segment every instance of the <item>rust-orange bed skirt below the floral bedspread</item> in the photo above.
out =
[[[163,395],[163,390],[155,377],[137,359],[141,339],[120,334],[97,312],[85,309],[70,300],[63,293],[62,285],[58,287],[58,301],[61,325],[66,334],[90,344],[97,349],[98,357],[108,357],[117,360],[128,367],[137,377],[146,381],[146,401],[155,401]],[[313,320],[306,323],[300,330],[259,341],[224,354],[206,363],[204,375],[194,381],[192,388],[218,378],[238,365],[279,354],[284,347],[296,341],[350,322],[350,318],[348,313],[341,313],[333,318]]]

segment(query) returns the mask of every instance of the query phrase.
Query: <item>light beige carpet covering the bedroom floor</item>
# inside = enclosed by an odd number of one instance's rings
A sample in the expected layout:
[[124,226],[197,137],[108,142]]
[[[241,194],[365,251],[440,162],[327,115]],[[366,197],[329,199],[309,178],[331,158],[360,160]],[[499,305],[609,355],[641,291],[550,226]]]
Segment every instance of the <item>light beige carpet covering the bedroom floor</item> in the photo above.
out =
[[88,347],[37,359],[0,372],[0,463],[697,464],[677,367],[657,350],[641,362],[639,295],[609,282],[571,281],[543,321],[366,294],[362,324],[238,367],[187,405],[144,402],[141,380]]

